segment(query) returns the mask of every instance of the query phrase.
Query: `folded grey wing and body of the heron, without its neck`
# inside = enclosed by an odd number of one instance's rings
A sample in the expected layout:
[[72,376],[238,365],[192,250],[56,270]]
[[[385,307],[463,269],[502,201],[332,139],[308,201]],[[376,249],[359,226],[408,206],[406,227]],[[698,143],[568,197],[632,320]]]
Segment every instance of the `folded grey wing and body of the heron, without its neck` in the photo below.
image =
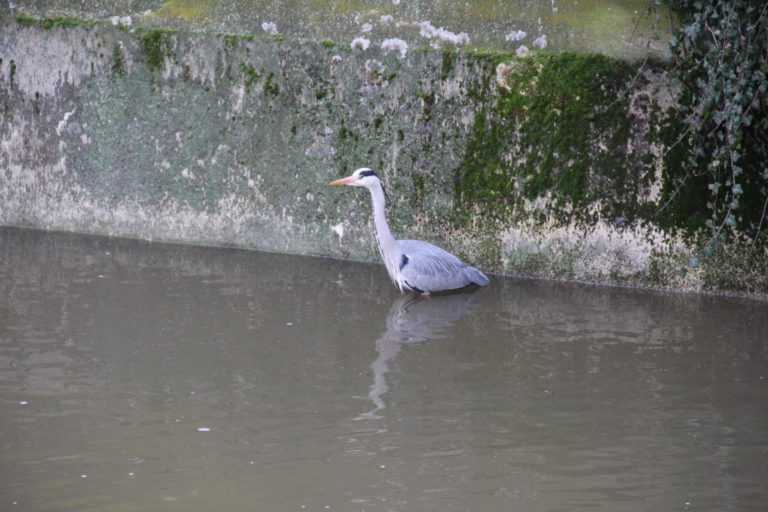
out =
[[414,291],[431,293],[463,288],[472,283],[488,284],[480,271],[436,245],[421,240],[400,240],[398,244],[403,255],[400,274]]

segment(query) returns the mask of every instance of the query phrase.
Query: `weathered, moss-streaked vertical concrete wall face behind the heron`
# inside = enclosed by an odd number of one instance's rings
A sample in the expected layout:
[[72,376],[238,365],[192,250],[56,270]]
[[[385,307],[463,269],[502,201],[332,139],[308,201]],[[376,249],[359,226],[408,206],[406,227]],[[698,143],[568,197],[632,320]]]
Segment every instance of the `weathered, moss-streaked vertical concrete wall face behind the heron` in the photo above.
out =
[[366,165],[396,234],[492,272],[768,289],[764,260],[718,280],[642,213],[664,200],[650,71],[619,95],[634,68],[597,57],[8,17],[0,58],[0,224],[375,260],[369,198],[327,186]]

